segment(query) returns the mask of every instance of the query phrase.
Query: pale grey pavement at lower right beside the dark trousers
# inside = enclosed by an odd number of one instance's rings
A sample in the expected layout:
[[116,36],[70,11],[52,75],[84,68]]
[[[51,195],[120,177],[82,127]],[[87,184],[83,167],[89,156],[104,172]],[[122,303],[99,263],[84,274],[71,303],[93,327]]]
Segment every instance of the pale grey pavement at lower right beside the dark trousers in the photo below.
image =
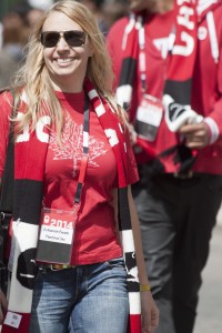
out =
[[193,333],[222,333],[222,209],[211,240],[210,258],[203,271],[198,312]]

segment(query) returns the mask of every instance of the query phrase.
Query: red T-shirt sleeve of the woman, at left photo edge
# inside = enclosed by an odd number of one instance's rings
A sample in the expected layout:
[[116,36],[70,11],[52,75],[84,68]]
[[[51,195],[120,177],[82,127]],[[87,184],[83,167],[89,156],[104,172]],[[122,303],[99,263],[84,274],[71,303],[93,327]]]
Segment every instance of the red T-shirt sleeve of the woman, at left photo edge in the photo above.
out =
[[0,178],[2,178],[9,135],[9,117],[12,97],[6,91],[0,94]]

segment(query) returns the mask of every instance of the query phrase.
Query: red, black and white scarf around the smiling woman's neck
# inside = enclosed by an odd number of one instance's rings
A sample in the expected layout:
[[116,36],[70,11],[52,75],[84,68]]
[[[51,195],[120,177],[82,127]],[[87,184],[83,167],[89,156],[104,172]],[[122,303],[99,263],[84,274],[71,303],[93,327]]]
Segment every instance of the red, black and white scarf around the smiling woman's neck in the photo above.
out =
[[[108,102],[98,94],[92,83],[85,79],[84,90],[100,120],[100,124],[112,147],[119,179],[119,226],[122,234],[122,249],[128,272],[130,302],[129,333],[140,333],[141,310],[138,268],[134,255],[134,242],[128,203],[128,165],[127,145],[122,127],[109,107]],[[40,212],[42,205],[42,184],[47,149],[50,138],[50,118],[41,119],[46,124],[42,135],[37,131],[24,131],[18,135],[14,147],[14,199],[12,222],[12,278],[9,294],[7,319],[2,333],[28,333],[31,313],[32,292],[37,266],[34,263],[39,234]],[[131,272],[133,271],[133,274]],[[18,323],[18,329],[10,322]]]

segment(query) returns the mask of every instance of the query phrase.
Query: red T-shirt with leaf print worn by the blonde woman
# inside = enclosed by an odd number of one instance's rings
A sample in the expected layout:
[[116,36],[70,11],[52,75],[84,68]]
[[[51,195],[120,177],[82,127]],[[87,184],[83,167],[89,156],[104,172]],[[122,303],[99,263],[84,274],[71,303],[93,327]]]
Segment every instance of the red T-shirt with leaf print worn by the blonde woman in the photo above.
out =
[[[72,210],[82,155],[83,93],[57,95],[64,111],[61,144],[51,132],[46,161],[44,205]],[[0,176],[2,174],[8,137],[10,107],[0,95]],[[133,152],[128,144],[128,183],[138,181]],[[81,214],[77,222],[72,264],[90,264],[122,255],[115,235],[112,189],[117,188],[117,163],[108,139],[93,110],[90,110],[89,162],[82,189]]]

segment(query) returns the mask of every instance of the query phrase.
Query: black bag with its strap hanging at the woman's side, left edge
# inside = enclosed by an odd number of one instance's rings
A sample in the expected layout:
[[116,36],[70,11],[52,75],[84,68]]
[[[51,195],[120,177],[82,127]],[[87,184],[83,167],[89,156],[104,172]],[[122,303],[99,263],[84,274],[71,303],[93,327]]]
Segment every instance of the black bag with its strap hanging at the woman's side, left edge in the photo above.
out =
[[[12,108],[12,114],[14,107]],[[10,125],[7,158],[3,178],[1,180],[0,196],[0,286],[6,293],[8,282],[8,270],[6,259],[6,248],[8,243],[9,224],[12,218],[13,208],[13,170],[14,170],[14,144],[13,124]]]

